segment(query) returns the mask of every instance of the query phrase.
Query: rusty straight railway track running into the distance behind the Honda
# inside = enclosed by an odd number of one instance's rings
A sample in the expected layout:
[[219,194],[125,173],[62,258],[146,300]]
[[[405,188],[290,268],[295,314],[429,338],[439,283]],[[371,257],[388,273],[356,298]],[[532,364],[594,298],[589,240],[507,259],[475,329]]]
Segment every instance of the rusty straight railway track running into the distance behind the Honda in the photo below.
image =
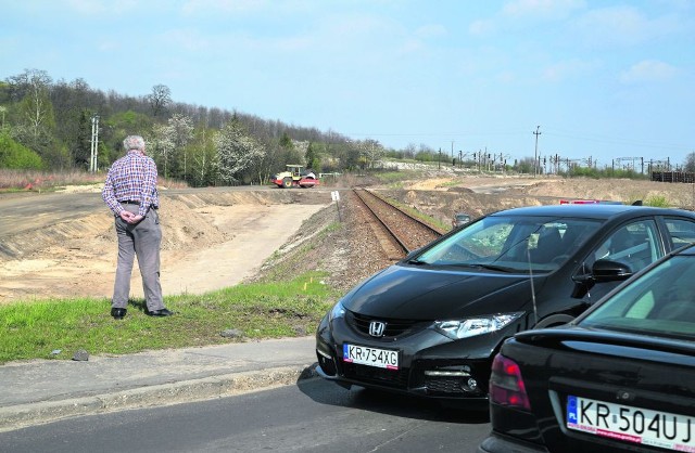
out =
[[372,231],[391,260],[399,260],[445,233],[393,206],[371,191],[354,189],[353,192],[369,211]]

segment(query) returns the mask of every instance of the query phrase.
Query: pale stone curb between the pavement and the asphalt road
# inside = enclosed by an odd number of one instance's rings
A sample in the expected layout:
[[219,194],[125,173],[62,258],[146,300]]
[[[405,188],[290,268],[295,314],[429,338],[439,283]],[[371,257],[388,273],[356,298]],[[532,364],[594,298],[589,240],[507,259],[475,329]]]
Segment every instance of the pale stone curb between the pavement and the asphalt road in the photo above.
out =
[[0,407],[0,432],[80,415],[203,401],[292,385],[299,380],[318,376],[315,367],[316,363],[271,367],[140,387],[105,394]]

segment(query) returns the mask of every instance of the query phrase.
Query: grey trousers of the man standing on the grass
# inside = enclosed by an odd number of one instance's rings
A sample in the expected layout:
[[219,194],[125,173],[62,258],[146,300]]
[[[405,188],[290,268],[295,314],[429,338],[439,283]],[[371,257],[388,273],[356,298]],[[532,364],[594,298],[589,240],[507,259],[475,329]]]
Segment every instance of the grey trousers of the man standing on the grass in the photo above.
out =
[[[137,212],[138,206],[125,205],[127,210]],[[116,281],[113,288],[111,306],[126,308],[130,297],[130,275],[135,257],[142,276],[142,289],[149,311],[164,308],[162,285],[160,283],[160,245],[162,229],[155,209],[150,209],[140,222],[130,224],[116,217],[116,234],[118,237],[118,261]]]

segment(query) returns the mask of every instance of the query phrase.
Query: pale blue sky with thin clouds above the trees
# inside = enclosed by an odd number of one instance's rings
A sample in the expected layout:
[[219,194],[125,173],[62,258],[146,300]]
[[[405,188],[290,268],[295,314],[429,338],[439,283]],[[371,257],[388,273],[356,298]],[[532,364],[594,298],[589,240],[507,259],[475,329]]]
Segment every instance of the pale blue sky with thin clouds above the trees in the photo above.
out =
[[693,0],[0,0],[26,69],[465,158],[695,152]]

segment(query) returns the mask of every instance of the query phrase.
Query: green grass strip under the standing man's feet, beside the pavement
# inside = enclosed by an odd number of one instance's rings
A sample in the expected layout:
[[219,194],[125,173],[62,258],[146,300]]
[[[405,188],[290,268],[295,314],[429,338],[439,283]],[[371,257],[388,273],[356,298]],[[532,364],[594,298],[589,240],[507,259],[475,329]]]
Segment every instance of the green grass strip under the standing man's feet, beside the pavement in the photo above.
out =
[[[312,335],[337,299],[321,284],[321,273],[292,281],[242,284],[203,295],[166,297],[169,318],[144,314],[143,300],[128,303],[128,314],[111,318],[108,299],[53,299],[0,306],[0,364],[14,360],[125,354],[163,348],[184,348]],[[241,338],[224,337],[237,329]],[[60,351],[60,352],[58,352]]]

